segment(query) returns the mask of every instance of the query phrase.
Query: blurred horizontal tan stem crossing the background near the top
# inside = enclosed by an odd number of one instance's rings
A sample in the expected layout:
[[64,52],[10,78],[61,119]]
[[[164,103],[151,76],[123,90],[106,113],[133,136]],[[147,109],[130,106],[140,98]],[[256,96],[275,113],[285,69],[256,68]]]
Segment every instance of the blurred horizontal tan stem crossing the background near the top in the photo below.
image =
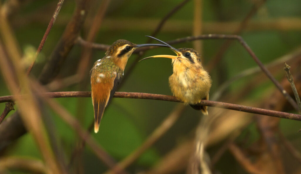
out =
[[[34,13],[35,14],[35,13]],[[16,28],[22,28],[25,25],[32,23],[48,24],[46,21],[49,14],[43,13],[39,15],[26,15],[22,18],[13,18],[12,23]],[[62,15],[62,18],[57,20],[55,23],[59,26],[65,26],[68,22],[67,15]],[[135,30],[149,32],[153,31],[161,19],[150,19],[150,18],[124,18],[116,19],[112,17],[106,17],[103,21],[103,28],[108,31],[120,32],[125,30]],[[123,24],[123,25],[120,25]],[[220,34],[232,34],[233,28],[238,28],[241,22],[225,21],[225,22],[203,22],[203,33],[220,33]],[[161,29],[164,33],[179,33],[183,31],[190,31],[193,27],[193,22],[182,19],[170,19],[166,21],[166,24]],[[301,18],[298,17],[278,17],[278,18],[267,18],[267,19],[251,19],[248,25],[244,28],[244,31],[300,31],[301,30]],[[187,33],[188,34],[188,33]]]

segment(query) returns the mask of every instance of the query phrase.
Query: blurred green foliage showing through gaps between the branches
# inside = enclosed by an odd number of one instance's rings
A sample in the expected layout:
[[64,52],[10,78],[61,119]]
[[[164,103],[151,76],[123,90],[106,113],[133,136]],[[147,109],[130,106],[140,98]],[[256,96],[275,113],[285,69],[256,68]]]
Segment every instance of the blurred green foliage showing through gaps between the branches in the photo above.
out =
[[[124,1],[112,0],[107,11],[105,18],[109,19],[162,19],[166,13],[169,12],[182,0],[154,0],[154,1]],[[11,18],[13,21],[12,26],[20,48],[24,51],[27,46],[38,47],[39,42],[45,32],[48,21],[53,13],[57,1],[39,0],[29,1],[24,6],[21,6],[20,11],[14,14]],[[203,1],[203,22],[231,22],[241,21],[253,6],[251,0],[234,0],[234,1]],[[277,19],[277,18],[300,18],[299,0],[274,0],[267,1],[252,20],[263,19]],[[95,2],[95,7],[98,7],[99,2]],[[41,55],[34,66],[32,75],[38,77],[39,72],[44,66],[47,58],[51,54],[55,44],[59,40],[62,32],[64,31],[66,22],[72,16],[75,7],[74,1],[65,1],[61,11],[58,15],[57,21],[54,24],[48,39],[42,49]],[[95,8],[94,7],[94,8]],[[95,11],[92,9],[91,11]],[[40,18],[35,16],[41,15]],[[91,14],[90,14],[91,15]],[[92,15],[88,17],[91,21]],[[24,20],[22,24],[14,21]],[[181,10],[171,17],[170,20],[185,20],[193,22],[193,2],[190,1]],[[88,22],[87,22],[88,24]],[[0,24],[1,25],[1,24]],[[121,23],[120,26],[123,24]],[[139,24],[136,24],[139,25]],[[150,35],[156,28],[157,23],[154,23],[153,28],[148,30],[136,30],[135,26],[129,30],[113,30],[108,28],[101,28],[95,42],[111,44],[117,39],[126,39],[134,43],[145,43],[147,38],[144,35]],[[185,36],[190,36],[192,33],[191,26],[187,26],[187,30],[182,32],[160,32],[157,38],[167,41]],[[82,31],[82,36],[85,38],[89,30],[89,26]],[[235,31],[235,28],[233,28]],[[207,34],[207,33],[205,33]],[[227,33],[225,33],[227,34]],[[244,40],[248,43],[251,49],[255,52],[258,58],[263,63],[269,63],[282,55],[294,50],[300,46],[301,31],[245,31],[242,34]],[[205,40],[203,41],[203,59],[204,64],[210,61],[219,47],[222,45],[222,40]],[[192,47],[192,43],[182,43],[175,45],[176,48]],[[74,46],[70,52],[63,69],[59,76],[61,78],[72,75],[76,72],[78,60],[81,55],[81,47]],[[171,54],[172,52],[164,48],[150,50],[144,56],[151,56],[155,54]],[[92,64],[95,60],[102,58],[104,51],[93,51]],[[131,65],[137,55],[132,55],[129,59],[128,65]],[[237,75],[244,69],[256,66],[256,63],[250,58],[250,55],[239,44],[234,43],[227,50],[223,57],[223,65],[225,66],[225,75],[230,78]],[[127,66],[129,67],[129,66]],[[127,68],[126,68],[127,70]],[[172,66],[170,60],[167,59],[150,59],[137,64],[132,74],[130,74],[127,81],[118,91],[126,92],[145,92],[172,95],[168,86],[168,77],[172,74]],[[213,87],[211,94],[215,92],[219,84],[215,79],[219,75],[217,68],[210,73],[213,78]],[[282,75],[278,76],[278,80]],[[90,90],[89,77],[86,77],[85,90]],[[225,79],[226,80],[226,79]],[[241,79],[233,83],[230,90],[237,90],[243,86],[248,79]],[[10,95],[3,78],[0,78],[0,96]],[[79,85],[61,89],[62,91],[76,91],[79,90]],[[265,91],[274,89],[272,82],[267,81],[256,90],[252,91],[248,96],[250,101],[256,100],[264,95]],[[87,128],[93,120],[93,109],[90,98],[76,99],[56,99],[63,105],[71,114],[77,116],[82,122],[82,125]],[[79,100],[82,100],[79,106]],[[113,99],[111,104],[106,108],[104,117],[101,121],[100,131],[98,134],[92,133],[93,137],[104,149],[117,160],[121,160],[129,155],[133,150],[140,146],[149,134],[166,118],[172,111],[176,103],[155,101],[155,100],[138,100],[138,99]],[[0,108],[4,108],[5,103],[0,103]],[[81,112],[79,112],[81,111]],[[78,137],[74,134],[73,130],[60,119],[57,114],[53,113],[49,108],[45,109],[48,116],[51,116],[54,121],[55,127],[53,130],[59,135],[59,142],[63,144],[66,154],[69,156],[72,149],[76,146],[74,143]],[[11,112],[13,113],[13,112]],[[10,113],[10,114],[11,114]],[[79,115],[78,113],[84,113]],[[176,122],[176,124],[157,142],[151,149],[147,150],[144,155],[139,158],[132,167],[132,171],[137,169],[144,169],[153,166],[164,154],[177,144],[185,140],[185,138],[192,135],[194,128],[200,119],[200,114],[197,111],[188,108],[183,116]],[[292,120],[281,120],[281,130],[283,133],[293,140],[294,143],[301,144],[300,136],[296,132],[300,128],[300,123]],[[256,132],[254,125],[250,125],[246,131],[251,132],[251,142],[255,141],[259,135]],[[241,136],[244,136],[242,134]],[[210,149],[214,152],[218,148],[212,147]],[[300,148],[299,148],[300,150]],[[14,146],[6,152],[8,155],[17,156],[31,156],[41,158],[41,154],[35,145],[33,138],[26,134],[21,137]],[[105,167],[93,155],[89,148],[84,151],[84,163],[86,173],[98,173],[104,171]],[[235,159],[227,153],[221,159],[221,163],[217,167],[225,173],[231,172],[234,168],[236,173],[244,173],[235,162]],[[226,167],[225,161],[228,164],[233,164],[230,170]]]

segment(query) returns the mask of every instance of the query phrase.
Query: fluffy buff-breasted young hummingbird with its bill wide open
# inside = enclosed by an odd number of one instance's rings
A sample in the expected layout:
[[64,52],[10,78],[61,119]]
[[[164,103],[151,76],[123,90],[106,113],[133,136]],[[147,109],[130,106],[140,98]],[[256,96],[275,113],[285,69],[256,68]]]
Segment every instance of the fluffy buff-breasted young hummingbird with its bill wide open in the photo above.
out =
[[186,105],[189,104],[192,108],[201,110],[204,115],[208,115],[207,106],[198,105],[202,99],[209,99],[209,90],[211,87],[211,78],[202,66],[200,55],[194,49],[175,49],[157,38],[151,38],[168,46],[177,56],[155,55],[141,60],[159,57],[171,58],[173,74],[169,76],[169,86],[173,95],[182,100]]

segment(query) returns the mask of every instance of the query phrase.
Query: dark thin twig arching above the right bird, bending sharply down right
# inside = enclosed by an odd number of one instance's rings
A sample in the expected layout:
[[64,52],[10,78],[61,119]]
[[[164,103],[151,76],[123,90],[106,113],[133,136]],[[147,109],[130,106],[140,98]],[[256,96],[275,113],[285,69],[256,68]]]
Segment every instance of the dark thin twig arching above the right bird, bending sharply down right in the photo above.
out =
[[294,99],[287,93],[286,90],[279,84],[279,82],[273,77],[271,72],[268,71],[268,69],[263,65],[263,63],[258,59],[258,57],[255,55],[255,53],[252,51],[252,49],[248,46],[248,44],[244,41],[244,39],[241,36],[238,35],[225,35],[225,34],[203,34],[200,36],[191,36],[191,37],[184,37],[176,40],[171,40],[167,43],[169,44],[175,44],[175,43],[182,43],[192,40],[198,40],[198,39],[234,39],[238,40],[239,43],[247,50],[247,52],[250,54],[250,56],[253,58],[253,60],[258,64],[260,69],[265,73],[265,75],[268,76],[268,78],[275,84],[275,86],[279,89],[279,91],[282,93],[282,95],[285,96],[285,98],[288,100],[288,102],[298,111],[298,105],[294,101]]

